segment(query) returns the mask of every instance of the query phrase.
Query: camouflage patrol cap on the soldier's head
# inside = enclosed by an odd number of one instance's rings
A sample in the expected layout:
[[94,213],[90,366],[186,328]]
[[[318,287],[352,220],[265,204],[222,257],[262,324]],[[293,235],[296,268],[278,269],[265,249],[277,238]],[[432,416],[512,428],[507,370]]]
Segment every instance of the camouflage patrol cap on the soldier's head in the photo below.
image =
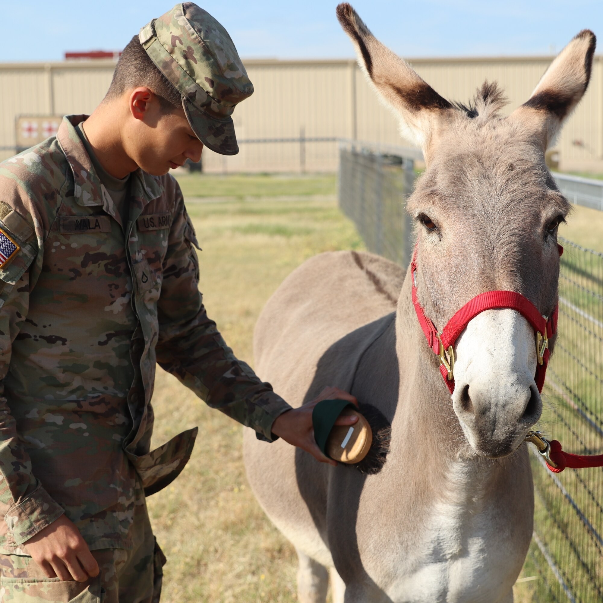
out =
[[181,2],[140,30],[140,44],[182,94],[192,130],[223,155],[239,152],[232,113],[253,84],[227,31],[193,2]]

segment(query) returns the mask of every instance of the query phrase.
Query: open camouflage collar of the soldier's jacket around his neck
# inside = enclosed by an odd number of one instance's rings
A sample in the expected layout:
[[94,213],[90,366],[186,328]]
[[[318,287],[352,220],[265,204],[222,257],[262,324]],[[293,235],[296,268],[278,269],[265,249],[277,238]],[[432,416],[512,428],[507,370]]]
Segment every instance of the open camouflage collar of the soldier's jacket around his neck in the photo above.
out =
[[[76,126],[87,118],[87,115],[66,115],[57,132],[58,143],[73,172],[74,197],[81,206],[102,206],[121,223],[119,211],[96,174],[92,160],[76,130]],[[162,194],[162,187],[157,179],[142,169],[137,169],[131,176],[130,192],[140,209]]]

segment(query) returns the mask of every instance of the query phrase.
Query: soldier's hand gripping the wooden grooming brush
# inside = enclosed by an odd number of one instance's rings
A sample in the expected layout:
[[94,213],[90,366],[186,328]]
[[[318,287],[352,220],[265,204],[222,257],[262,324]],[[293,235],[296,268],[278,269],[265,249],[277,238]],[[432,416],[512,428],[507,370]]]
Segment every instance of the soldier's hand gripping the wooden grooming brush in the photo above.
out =
[[[292,446],[298,446],[306,452],[309,452],[321,463],[329,463],[330,465],[336,466],[337,461],[333,461],[333,459],[324,456],[324,454],[320,452],[320,448],[314,439],[314,426],[312,425],[312,411],[314,410],[314,406],[321,400],[329,399],[347,400],[358,406],[358,400],[356,400],[352,394],[347,393],[347,391],[339,390],[339,388],[336,387],[326,387],[321,391],[317,399],[312,400],[312,402],[300,406],[300,408],[294,408],[290,411],[283,412],[283,414],[274,421],[272,432],[274,435],[278,435],[279,438],[283,438],[283,440],[292,444]],[[335,425],[353,425],[356,421],[358,421],[358,417],[338,417],[335,421]]]

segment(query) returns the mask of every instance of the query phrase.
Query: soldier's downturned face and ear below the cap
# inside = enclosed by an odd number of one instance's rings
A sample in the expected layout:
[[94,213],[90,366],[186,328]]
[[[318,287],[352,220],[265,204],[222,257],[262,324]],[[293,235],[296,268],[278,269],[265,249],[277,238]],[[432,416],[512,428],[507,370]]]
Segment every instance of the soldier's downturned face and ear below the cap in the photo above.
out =
[[203,143],[191,130],[182,107],[166,112],[151,92],[151,96],[142,93],[140,98],[130,99],[130,110],[134,119],[124,148],[139,168],[160,176],[187,159],[195,163],[201,159]]

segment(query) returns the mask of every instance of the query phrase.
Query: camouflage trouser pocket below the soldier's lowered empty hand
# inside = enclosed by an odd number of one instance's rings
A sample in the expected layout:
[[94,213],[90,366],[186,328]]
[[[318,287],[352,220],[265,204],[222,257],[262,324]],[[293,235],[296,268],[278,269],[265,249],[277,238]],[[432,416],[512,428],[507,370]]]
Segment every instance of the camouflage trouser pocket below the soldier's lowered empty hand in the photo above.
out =
[[60,578],[0,578],[0,603],[101,603],[101,577],[89,582]]

